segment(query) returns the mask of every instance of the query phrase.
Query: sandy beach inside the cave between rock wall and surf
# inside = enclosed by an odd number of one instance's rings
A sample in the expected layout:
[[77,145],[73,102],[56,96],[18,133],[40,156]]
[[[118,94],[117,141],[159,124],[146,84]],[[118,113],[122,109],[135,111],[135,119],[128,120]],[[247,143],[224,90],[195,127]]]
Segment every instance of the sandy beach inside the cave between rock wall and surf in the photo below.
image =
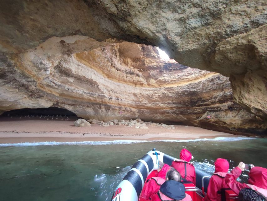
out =
[[0,143],[23,142],[80,142],[110,140],[163,140],[236,137],[236,135],[193,126],[167,129],[147,125],[148,129],[126,126],[75,127],[77,117],[46,120],[39,117],[0,117]]

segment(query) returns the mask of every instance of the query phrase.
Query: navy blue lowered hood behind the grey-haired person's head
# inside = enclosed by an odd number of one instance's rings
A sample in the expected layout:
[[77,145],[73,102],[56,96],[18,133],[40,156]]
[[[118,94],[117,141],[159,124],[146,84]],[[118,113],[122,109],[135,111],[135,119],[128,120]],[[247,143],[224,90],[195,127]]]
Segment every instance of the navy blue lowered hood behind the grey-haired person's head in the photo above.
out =
[[160,187],[160,191],[167,197],[175,200],[182,200],[185,198],[184,185],[174,180],[164,182]]

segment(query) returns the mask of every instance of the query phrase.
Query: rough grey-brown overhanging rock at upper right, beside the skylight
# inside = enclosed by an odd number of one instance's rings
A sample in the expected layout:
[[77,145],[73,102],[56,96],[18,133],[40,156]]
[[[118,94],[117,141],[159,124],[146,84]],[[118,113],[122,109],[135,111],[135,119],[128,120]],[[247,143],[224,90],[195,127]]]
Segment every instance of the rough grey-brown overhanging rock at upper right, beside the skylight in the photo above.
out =
[[230,77],[234,100],[267,117],[266,1],[100,2],[125,33],[179,63]]

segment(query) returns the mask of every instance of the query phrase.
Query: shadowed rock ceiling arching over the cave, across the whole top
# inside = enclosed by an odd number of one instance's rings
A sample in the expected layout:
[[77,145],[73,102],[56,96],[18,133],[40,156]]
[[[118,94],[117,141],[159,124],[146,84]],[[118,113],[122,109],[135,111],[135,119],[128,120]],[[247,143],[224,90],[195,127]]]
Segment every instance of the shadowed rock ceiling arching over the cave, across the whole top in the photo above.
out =
[[153,44],[183,65],[230,77],[234,100],[266,118],[264,0],[3,0],[0,9],[5,65],[13,65],[6,57],[34,49],[52,36]]

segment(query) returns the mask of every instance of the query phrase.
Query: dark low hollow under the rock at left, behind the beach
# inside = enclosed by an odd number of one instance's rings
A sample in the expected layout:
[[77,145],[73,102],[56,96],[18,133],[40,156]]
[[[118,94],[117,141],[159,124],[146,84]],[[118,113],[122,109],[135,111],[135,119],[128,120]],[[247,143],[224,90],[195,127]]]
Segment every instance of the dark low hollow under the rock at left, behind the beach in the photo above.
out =
[[75,120],[78,119],[76,114],[64,108],[47,107],[47,108],[23,108],[11,111],[5,111],[1,117],[4,119],[38,119],[38,120]]

